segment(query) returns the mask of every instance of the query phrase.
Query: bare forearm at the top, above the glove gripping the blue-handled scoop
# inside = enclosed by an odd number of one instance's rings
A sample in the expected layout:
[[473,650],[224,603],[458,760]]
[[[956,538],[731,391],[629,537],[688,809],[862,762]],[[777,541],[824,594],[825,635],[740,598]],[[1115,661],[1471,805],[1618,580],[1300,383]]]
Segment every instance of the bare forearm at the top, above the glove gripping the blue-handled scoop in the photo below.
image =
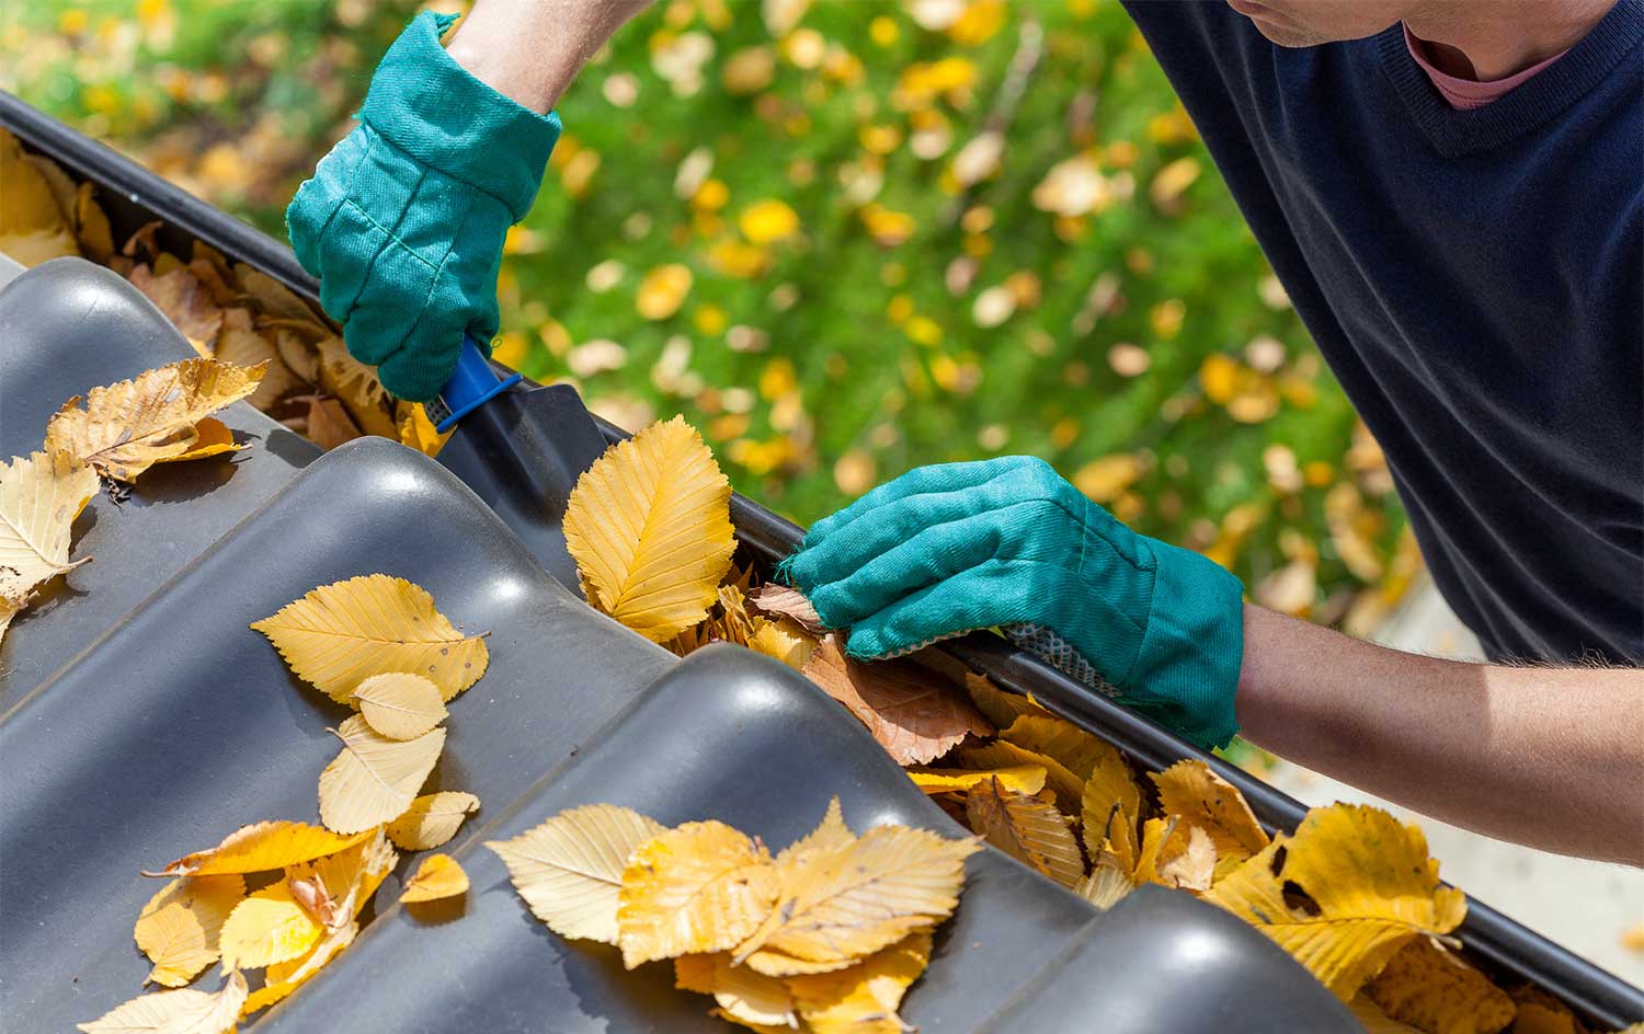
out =
[[477,0],[446,51],[477,79],[547,113],[649,0]]

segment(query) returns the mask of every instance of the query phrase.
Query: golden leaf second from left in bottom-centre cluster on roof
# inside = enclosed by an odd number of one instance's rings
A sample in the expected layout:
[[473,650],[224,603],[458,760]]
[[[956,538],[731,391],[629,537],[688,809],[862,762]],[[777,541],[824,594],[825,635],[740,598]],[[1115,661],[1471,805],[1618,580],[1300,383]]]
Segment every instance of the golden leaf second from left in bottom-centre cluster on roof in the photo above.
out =
[[687,822],[628,856],[616,894],[616,944],[630,970],[653,958],[723,952],[776,899],[763,847],[723,822]]

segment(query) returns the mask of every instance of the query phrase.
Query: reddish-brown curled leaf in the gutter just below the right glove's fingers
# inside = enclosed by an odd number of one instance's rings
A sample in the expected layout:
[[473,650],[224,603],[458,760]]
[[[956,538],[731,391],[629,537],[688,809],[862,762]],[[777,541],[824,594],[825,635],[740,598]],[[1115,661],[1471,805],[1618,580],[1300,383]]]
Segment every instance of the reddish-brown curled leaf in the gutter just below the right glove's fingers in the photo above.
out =
[[[927,764],[967,735],[993,735],[993,727],[957,687],[911,661],[850,659],[840,651],[837,633],[822,639],[806,676],[850,709],[898,764]],[[972,768],[1008,764],[1016,761]]]

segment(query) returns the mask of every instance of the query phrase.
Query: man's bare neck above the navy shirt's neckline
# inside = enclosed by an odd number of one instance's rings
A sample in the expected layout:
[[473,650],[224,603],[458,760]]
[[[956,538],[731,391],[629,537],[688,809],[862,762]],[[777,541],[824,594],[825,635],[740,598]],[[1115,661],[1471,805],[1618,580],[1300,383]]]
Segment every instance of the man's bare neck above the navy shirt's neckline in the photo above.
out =
[[1491,82],[1562,54],[1616,0],[1429,0],[1404,25],[1447,76]]

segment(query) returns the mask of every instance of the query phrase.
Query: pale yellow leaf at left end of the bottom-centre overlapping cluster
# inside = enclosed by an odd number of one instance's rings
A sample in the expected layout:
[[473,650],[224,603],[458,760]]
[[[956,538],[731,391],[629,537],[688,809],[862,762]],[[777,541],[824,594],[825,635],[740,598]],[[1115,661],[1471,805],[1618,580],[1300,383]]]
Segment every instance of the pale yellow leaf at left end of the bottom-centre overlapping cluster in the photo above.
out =
[[485,847],[508,866],[531,912],[561,937],[616,944],[623,870],[636,847],[667,832],[626,807],[572,807],[513,840]]

